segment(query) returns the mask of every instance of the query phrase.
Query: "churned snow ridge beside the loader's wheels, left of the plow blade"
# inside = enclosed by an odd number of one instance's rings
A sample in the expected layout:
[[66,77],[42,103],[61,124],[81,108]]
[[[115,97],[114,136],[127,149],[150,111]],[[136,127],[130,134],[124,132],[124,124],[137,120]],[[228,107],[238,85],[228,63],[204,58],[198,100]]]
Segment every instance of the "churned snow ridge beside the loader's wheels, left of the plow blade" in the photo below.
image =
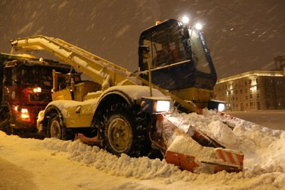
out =
[[147,157],[131,158],[126,154],[117,157],[98,147],[82,144],[79,140],[64,142],[59,139],[43,139],[43,146],[54,151],[68,152],[69,159],[91,164],[96,169],[115,176],[153,179],[159,176],[170,176],[180,171],[164,160]]

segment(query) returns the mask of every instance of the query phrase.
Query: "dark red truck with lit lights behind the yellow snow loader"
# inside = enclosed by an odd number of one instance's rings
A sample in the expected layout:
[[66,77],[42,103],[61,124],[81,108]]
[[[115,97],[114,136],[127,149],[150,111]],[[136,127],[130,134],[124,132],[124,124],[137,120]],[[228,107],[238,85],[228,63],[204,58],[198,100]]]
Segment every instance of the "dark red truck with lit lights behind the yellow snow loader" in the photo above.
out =
[[[29,55],[0,53],[0,128],[7,134],[36,131],[38,112],[51,102],[53,73],[71,66]],[[65,80],[65,78],[61,79]],[[66,81],[58,83],[65,88]]]

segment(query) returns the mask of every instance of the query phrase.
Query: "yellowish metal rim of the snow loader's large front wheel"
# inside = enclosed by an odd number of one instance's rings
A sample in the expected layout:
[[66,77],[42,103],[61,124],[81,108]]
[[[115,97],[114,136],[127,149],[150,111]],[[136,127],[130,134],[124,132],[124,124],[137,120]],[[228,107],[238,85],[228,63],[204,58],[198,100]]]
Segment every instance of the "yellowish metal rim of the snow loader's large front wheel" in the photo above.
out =
[[108,141],[116,152],[124,152],[131,144],[130,124],[122,118],[115,118],[108,127]]

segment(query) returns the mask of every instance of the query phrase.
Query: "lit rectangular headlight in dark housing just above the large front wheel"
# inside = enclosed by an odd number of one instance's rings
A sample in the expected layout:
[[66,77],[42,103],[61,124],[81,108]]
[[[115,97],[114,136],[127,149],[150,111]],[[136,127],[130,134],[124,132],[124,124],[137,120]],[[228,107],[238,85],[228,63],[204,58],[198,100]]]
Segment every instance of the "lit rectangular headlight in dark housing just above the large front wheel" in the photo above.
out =
[[170,112],[171,100],[166,97],[142,97],[140,106],[142,111],[150,114]]

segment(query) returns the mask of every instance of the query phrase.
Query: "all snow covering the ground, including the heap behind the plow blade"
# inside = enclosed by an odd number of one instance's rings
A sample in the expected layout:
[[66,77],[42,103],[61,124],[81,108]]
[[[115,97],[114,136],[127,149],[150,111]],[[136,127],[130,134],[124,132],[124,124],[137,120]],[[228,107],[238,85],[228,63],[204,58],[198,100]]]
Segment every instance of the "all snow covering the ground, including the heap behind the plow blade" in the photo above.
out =
[[79,141],[23,139],[0,131],[0,189],[285,189],[285,131],[214,112],[175,115],[229,149],[244,153],[244,171],[191,173],[159,159],[115,157]]

